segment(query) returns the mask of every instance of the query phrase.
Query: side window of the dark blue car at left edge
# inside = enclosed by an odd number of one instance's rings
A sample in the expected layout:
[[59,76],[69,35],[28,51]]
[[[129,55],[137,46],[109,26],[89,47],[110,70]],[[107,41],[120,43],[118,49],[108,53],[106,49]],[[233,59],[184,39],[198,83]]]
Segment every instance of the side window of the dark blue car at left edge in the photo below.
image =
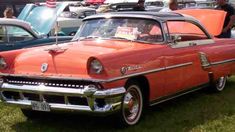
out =
[[32,40],[34,37],[25,29],[16,26],[4,26],[4,42],[19,42]]

